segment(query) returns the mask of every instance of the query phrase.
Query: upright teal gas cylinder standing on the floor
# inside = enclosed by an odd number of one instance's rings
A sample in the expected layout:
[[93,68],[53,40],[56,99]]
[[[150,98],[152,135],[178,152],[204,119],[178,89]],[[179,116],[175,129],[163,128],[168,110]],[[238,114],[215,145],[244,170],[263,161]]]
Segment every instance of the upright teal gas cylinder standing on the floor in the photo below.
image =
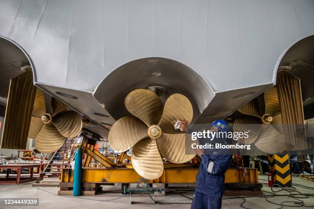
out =
[[82,178],[82,150],[77,149],[75,152],[74,179],[73,179],[73,196],[81,196],[81,178]]

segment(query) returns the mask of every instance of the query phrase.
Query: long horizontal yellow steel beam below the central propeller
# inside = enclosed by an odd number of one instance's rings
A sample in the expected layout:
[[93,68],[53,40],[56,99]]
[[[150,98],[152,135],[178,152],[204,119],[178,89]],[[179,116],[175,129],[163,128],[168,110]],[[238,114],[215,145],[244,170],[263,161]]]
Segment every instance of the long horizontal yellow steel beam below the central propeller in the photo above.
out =
[[[198,168],[173,168],[165,169],[158,179],[149,180],[149,183],[195,183]],[[257,169],[230,168],[225,174],[225,183],[257,183]],[[142,177],[133,169],[103,169],[83,168],[82,182],[108,182],[108,183],[136,183]],[[73,181],[73,171],[63,169],[62,182]]]

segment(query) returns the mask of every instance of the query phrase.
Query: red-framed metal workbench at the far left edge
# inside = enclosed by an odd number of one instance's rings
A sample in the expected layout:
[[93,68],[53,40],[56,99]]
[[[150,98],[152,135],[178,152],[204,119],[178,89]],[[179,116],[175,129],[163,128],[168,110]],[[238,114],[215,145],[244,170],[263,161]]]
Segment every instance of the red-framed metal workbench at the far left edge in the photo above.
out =
[[[7,176],[6,178],[0,178],[0,184],[19,184],[21,182],[28,182],[28,181],[34,181],[37,180],[39,178],[33,178],[33,173],[34,173],[34,168],[37,168],[37,172],[39,171],[41,164],[7,164],[7,165],[0,165],[0,169],[7,169]],[[10,172],[11,169],[16,170],[16,180],[12,181],[10,179]],[[30,178],[26,178],[21,180],[21,171],[22,169],[28,169],[29,170],[29,174],[30,174]]]

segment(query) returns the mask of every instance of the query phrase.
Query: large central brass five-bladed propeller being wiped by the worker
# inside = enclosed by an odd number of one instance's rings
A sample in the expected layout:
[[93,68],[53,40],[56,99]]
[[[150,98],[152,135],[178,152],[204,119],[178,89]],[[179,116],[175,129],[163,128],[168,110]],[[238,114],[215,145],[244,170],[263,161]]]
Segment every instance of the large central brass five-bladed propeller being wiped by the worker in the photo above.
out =
[[172,94],[163,110],[155,93],[138,89],[126,96],[125,107],[137,118],[127,116],[117,120],[110,129],[109,144],[119,152],[133,147],[131,161],[139,175],[146,179],[159,178],[164,172],[161,155],[173,163],[184,163],[195,157],[189,144],[192,140],[186,140],[190,135],[173,128],[176,120],[191,122],[193,109],[188,98]]

